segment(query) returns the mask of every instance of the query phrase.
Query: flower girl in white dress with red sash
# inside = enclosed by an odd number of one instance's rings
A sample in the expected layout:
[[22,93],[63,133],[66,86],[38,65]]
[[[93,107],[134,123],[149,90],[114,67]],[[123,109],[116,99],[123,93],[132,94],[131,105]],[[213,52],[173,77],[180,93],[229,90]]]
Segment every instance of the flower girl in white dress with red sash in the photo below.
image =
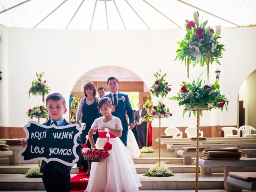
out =
[[[97,118],[92,124],[92,127],[88,132],[89,141],[92,148],[103,148],[108,141],[107,136],[109,136],[109,142],[112,144],[112,149],[108,151],[110,154],[109,157],[100,162],[92,162],[86,191],[138,191],[138,187],[142,185],[138,179],[132,157],[119,138],[122,136],[121,120],[112,116],[112,104],[110,98],[101,98],[98,102],[98,107],[103,117]],[[99,131],[99,138],[97,139],[96,144],[92,137],[95,130]]]

